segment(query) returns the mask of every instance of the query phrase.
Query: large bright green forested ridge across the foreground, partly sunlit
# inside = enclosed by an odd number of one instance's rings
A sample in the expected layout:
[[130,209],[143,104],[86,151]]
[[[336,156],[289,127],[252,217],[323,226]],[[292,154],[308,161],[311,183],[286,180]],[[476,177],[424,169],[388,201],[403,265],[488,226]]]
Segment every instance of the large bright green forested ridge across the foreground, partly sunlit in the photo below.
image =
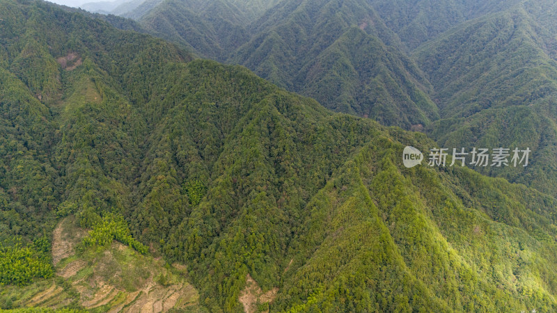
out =
[[[157,263],[156,286],[189,280],[199,310],[242,311],[248,277],[274,292],[249,303],[261,311],[557,309],[555,198],[407,169],[403,147],[427,151],[425,135],[148,35],[41,1],[0,0],[0,19],[3,307],[79,260],[54,278],[70,301],[30,303],[86,307],[97,264],[161,256],[187,273]],[[52,230],[72,218],[91,232],[53,267]]]

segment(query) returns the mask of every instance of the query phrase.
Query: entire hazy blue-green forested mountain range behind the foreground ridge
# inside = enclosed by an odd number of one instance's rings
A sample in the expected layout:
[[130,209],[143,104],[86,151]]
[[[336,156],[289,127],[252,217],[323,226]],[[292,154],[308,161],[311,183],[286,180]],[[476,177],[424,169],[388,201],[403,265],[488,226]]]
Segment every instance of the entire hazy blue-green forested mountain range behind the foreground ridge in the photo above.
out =
[[478,170],[557,195],[551,1],[280,1],[253,16],[237,2],[164,1],[139,23],[330,109],[425,131],[449,149],[530,147],[526,169]]

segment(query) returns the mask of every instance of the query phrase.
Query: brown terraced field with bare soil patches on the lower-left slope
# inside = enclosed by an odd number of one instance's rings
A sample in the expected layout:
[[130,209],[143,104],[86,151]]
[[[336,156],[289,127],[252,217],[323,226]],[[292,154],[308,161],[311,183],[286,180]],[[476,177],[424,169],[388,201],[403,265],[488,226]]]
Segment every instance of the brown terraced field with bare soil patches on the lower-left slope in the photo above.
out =
[[52,247],[56,277],[10,286],[0,297],[23,307],[56,309],[73,302],[91,312],[202,311],[185,266],[165,264],[116,241],[103,252],[90,248],[78,255],[75,248],[86,233],[72,216],[62,220]]

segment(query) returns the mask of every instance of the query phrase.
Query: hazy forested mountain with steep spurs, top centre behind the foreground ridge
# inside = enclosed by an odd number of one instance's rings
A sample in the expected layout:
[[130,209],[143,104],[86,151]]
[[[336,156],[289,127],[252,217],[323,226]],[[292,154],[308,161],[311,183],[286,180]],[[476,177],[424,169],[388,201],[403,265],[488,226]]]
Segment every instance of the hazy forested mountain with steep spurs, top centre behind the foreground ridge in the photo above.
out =
[[343,113],[410,129],[437,119],[431,86],[367,1],[283,1],[228,60]]

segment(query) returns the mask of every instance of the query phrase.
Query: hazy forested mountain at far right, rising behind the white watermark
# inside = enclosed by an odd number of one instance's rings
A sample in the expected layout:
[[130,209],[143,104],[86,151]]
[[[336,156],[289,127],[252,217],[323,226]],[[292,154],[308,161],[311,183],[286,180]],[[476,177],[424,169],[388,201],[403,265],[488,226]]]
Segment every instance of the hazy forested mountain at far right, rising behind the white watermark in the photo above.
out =
[[540,11],[547,16],[557,8],[540,3],[467,22],[415,56],[434,86],[441,120],[427,131],[439,145],[530,147],[532,163],[524,170],[478,170],[555,195],[556,23]]

